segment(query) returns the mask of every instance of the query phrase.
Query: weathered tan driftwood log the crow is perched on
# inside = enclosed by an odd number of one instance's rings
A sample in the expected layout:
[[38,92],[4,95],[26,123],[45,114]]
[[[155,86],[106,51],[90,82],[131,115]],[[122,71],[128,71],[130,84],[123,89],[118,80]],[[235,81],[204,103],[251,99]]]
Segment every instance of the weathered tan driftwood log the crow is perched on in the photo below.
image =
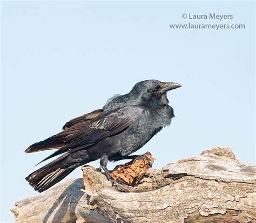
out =
[[18,201],[16,222],[256,222],[256,167],[229,148],[150,169],[136,187],[82,170],[84,180]]

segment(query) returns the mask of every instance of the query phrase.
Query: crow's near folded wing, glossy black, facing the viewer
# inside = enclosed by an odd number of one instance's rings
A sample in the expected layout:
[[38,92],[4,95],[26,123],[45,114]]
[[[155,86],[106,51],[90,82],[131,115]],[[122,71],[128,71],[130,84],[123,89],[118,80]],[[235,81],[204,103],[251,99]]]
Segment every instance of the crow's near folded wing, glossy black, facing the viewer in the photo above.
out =
[[[72,153],[89,148],[104,140],[104,138],[116,135],[136,121],[142,112],[143,110],[139,107],[133,109],[132,107],[127,108],[126,106],[115,109],[114,111],[104,111],[101,115],[97,116],[97,119],[81,128],[76,134],[66,137],[64,146],[46,157],[43,161],[63,154],[64,152]],[[75,127],[75,124],[73,127]]]

